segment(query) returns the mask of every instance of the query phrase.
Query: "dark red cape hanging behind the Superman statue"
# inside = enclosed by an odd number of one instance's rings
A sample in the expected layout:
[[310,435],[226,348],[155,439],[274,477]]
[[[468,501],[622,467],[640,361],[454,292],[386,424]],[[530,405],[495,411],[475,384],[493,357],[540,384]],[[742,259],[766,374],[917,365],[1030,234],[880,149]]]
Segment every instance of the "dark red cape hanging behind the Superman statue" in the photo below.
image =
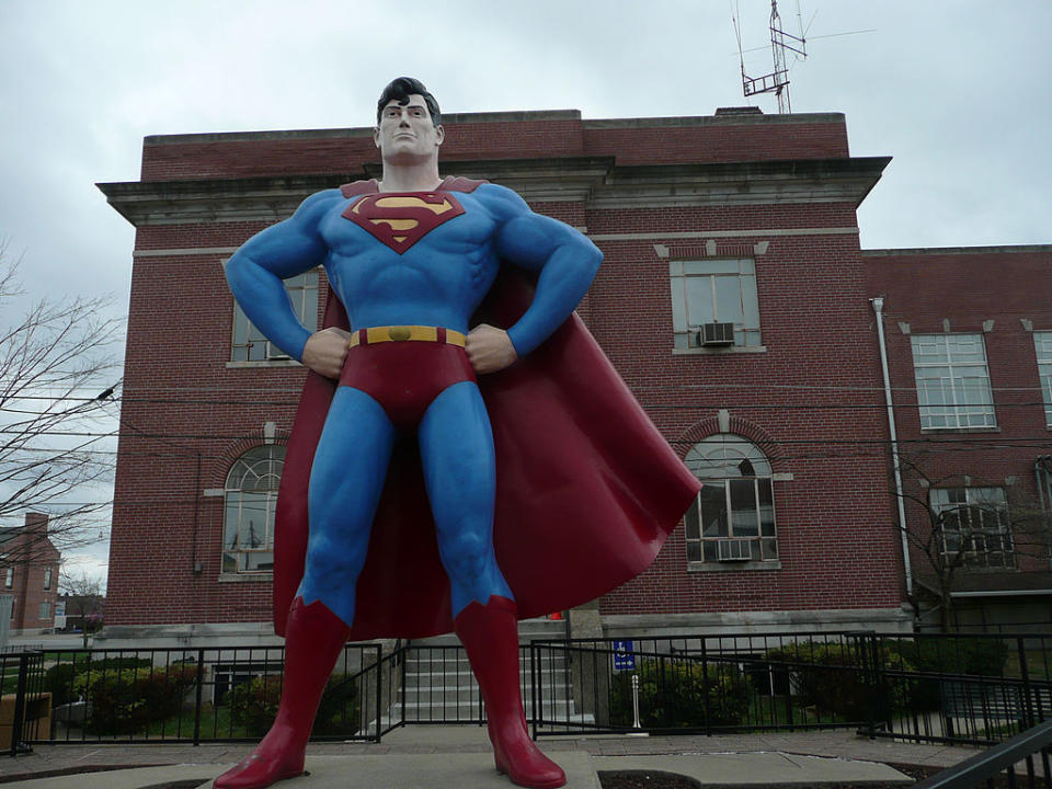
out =
[[[447,179],[469,192],[478,182]],[[344,187],[344,193],[347,194]],[[375,182],[352,185],[375,191]],[[507,328],[533,297],[505,271],[473,322]],[[330,290],[324,325],[348,329]],[[335,381],[309,373],[285,456],[274,545],[274,629],[304,575],[307,485]],[[571,608],[636,576],[697,495],[687,470],[576,315],[527,357],[482,376],[496,448],[496,559],[521,618]],[[396,446],[358,579],[350,639],[453,630],[449,581],[414,439]]]

